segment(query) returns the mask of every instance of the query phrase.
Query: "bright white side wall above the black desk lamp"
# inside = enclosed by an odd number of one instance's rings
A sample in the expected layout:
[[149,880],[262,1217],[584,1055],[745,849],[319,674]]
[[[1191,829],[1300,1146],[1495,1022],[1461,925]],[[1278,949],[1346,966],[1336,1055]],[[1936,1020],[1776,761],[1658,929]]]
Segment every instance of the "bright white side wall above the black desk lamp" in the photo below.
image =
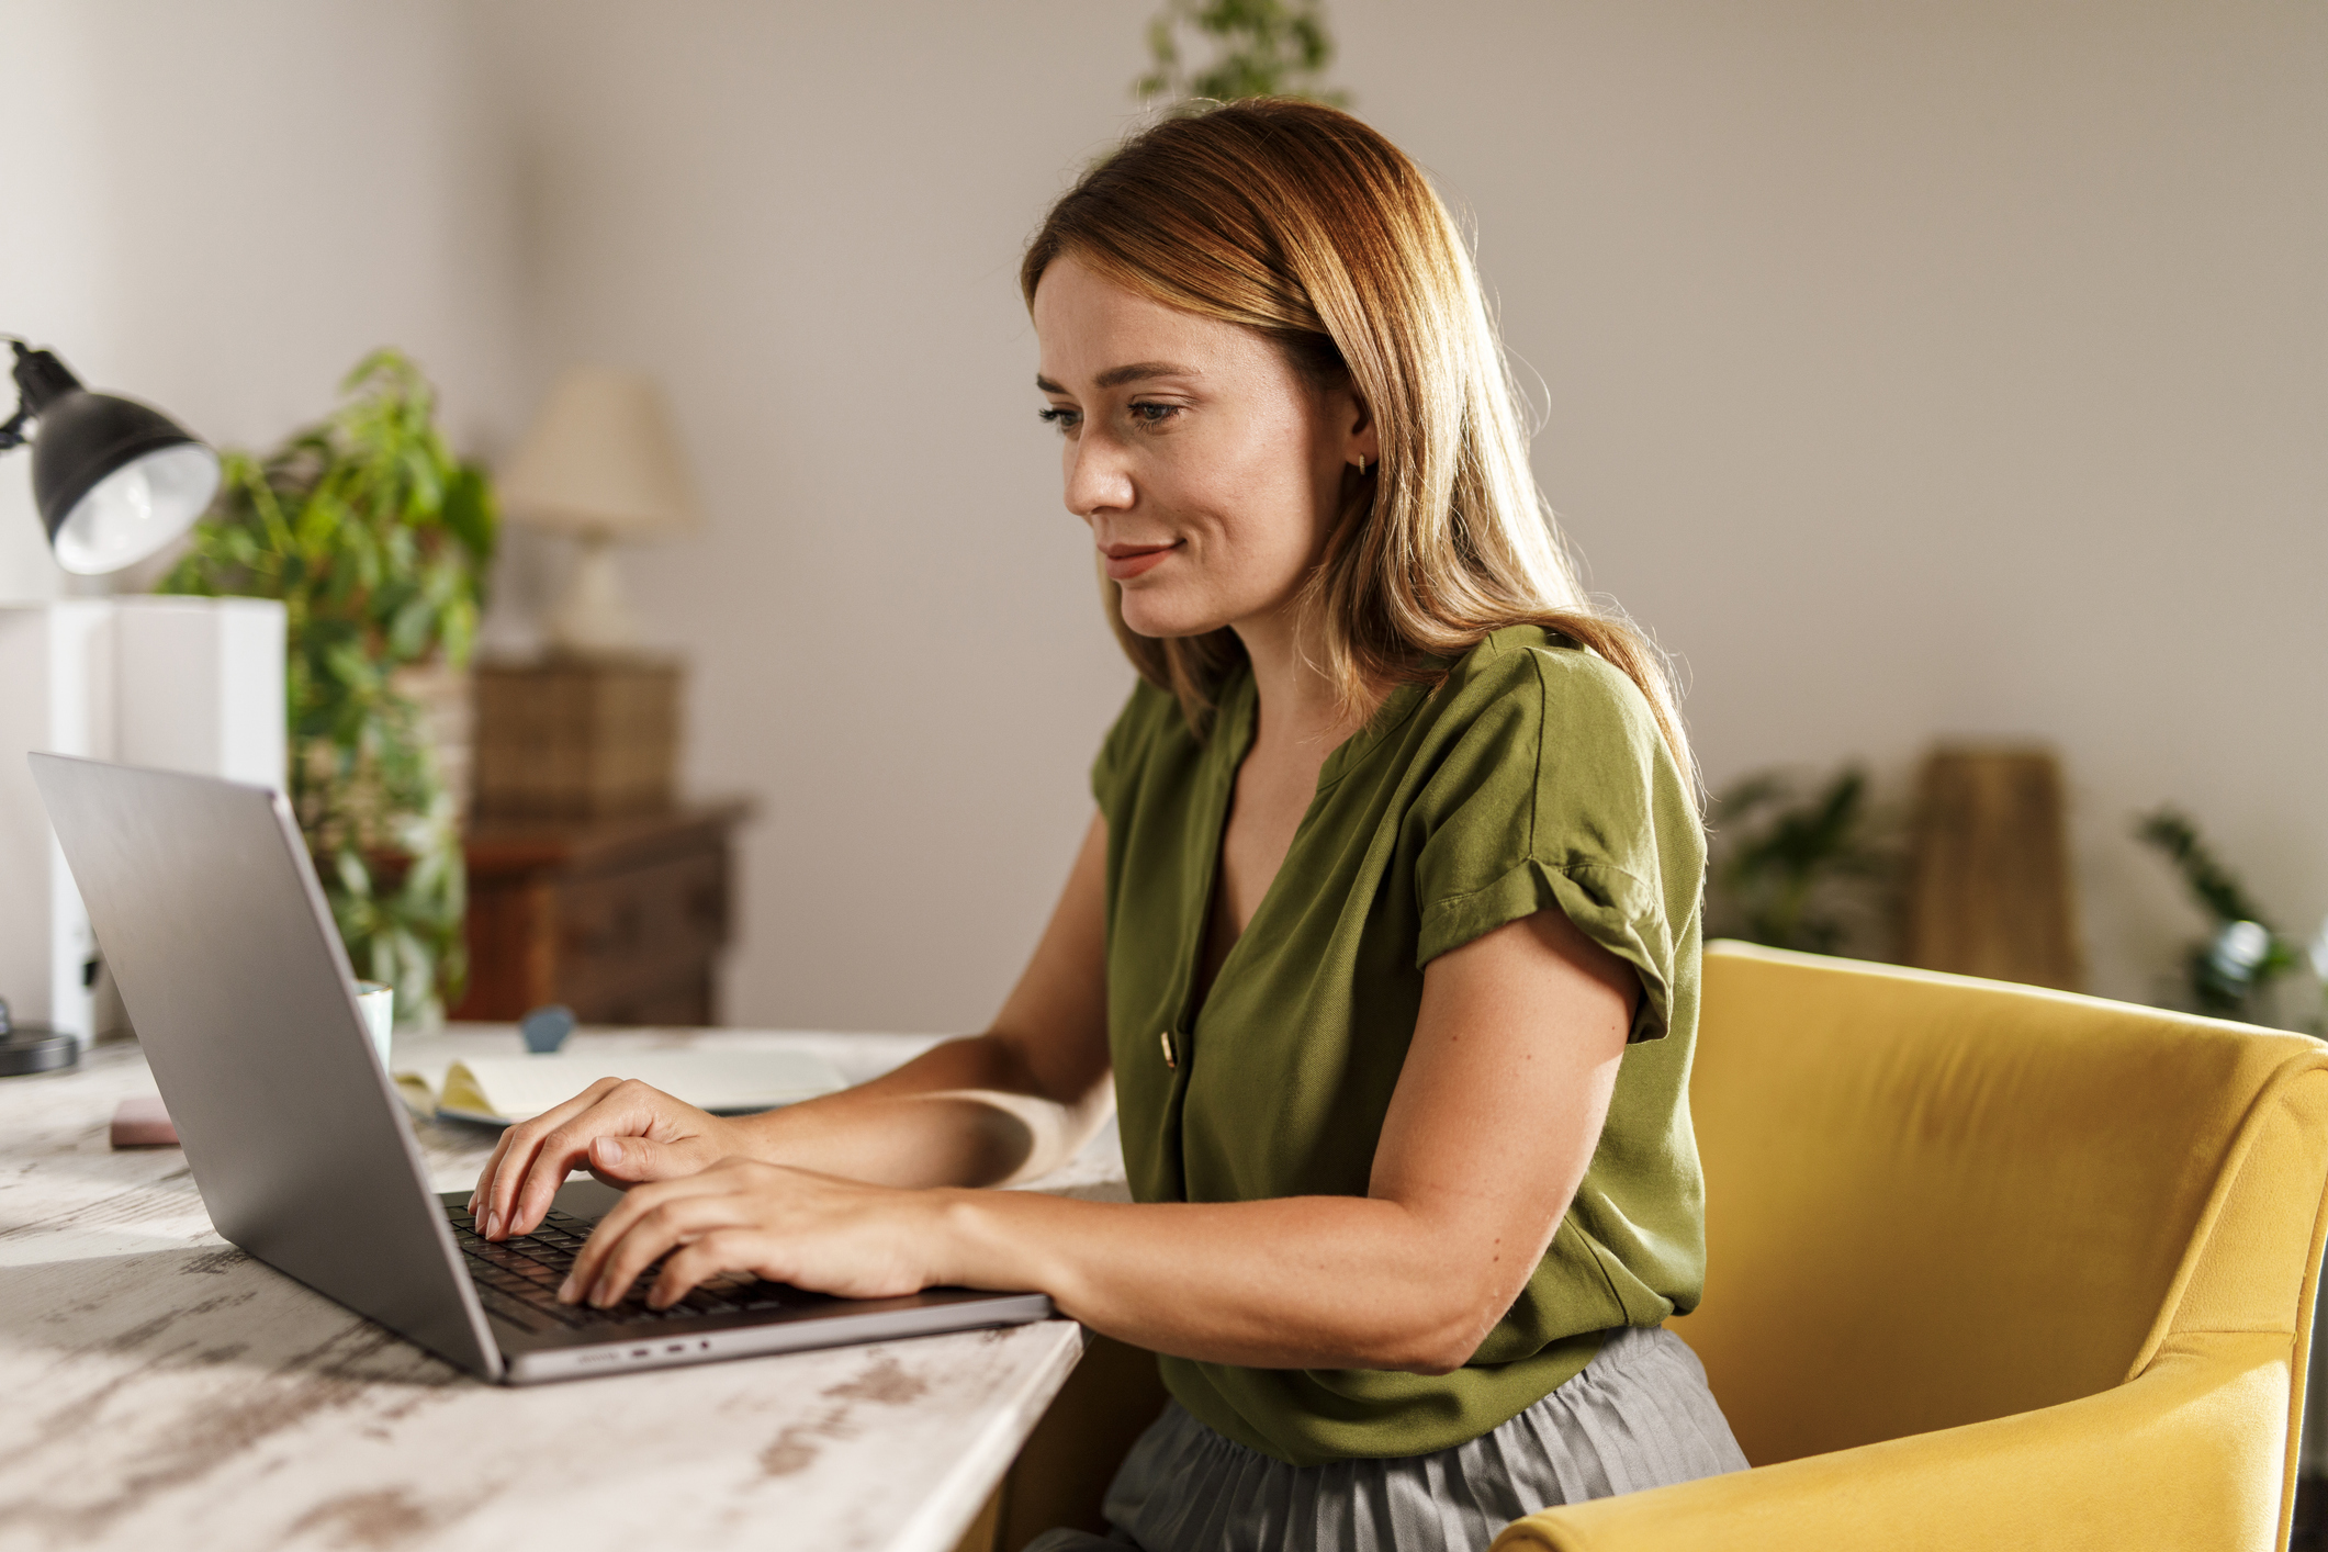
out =
[[[0,0],[0,333],[244,447],[400,344],[494,444],[514,219],[475,58],[461,0]],[[0,461],[0,598],[54,598],[26,463]]]

